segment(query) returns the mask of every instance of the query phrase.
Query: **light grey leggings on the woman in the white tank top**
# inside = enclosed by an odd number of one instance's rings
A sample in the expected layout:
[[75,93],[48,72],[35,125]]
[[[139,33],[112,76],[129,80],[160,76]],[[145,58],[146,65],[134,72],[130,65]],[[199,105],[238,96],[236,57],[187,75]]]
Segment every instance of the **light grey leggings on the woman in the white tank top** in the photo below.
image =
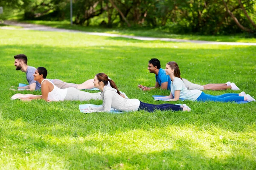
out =
[[102,96],[100,95],[101,93],[88,93],[85,91],[80,91],[76,88],[67,88],[67,95],[64,100],[80,100],[80,101],[85,101],[85,100],[102,100]]

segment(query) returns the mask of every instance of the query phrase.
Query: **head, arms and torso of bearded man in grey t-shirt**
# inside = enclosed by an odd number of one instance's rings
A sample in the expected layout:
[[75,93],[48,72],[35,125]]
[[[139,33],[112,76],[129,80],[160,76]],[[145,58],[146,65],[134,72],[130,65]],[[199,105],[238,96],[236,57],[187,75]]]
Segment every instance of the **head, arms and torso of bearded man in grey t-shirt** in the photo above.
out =
[[26,73],[26,79],[29,83],[29,85],[26,85],[24,87],[18,87],[18,89],[25,89],[25,90],[39,90],[41,88],[41,85],[39,82],[34,80],[33,74],[35,73],[36,68],[27,65],[28,59],[26,55],[24,54],[18,54],[14,56],[15,62],[14,65],[16,67],[16,70],[21,70]]

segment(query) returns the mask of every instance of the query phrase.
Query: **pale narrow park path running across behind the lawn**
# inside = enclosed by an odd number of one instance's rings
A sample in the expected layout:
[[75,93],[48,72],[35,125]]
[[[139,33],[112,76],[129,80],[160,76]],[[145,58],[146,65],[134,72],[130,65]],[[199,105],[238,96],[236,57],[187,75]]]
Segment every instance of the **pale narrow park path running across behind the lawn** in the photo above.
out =
[[250,43],[250,42],[214,42],[214,41],[202,41],[202,40],[182,40],[182,39],[174,39],[174,38],[140,37],[140,36],[108,34],[108,33],[100,33],[100,32],[86,32],[86,31],[77,31],[77,30],[69,30],[69,29],[62,29],[62,28],[52,28],[49,26],[30,24],[30,23],[18,23],[16,21],[4,21],[4,24],[10,25],[10,26],[21,26],[23,27],[22,28],[23,30],[79,32],[79,33],[84,33],[89,35],[98,35],[98,36],[107,36],[107,37],[123,37],[123,38],[145,40],[145,41],[160,40],[160,41],[170,41],[170,42],[192,42],[192,43],[200,43],[200,44],[217,44],[217,45],[256,45],[256,43]]

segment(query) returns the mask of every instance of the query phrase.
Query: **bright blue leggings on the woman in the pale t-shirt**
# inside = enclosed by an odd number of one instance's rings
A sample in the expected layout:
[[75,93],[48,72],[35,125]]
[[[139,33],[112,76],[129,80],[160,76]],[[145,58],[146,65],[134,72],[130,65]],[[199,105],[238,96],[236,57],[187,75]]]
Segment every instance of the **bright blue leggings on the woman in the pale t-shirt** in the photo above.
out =
[[219,96],[205,94],[204,92],[196,99],[197,101],[214,101],[214,102],[241,102],[244,101],[244,96],[239,96],[236,93],[227,93]]

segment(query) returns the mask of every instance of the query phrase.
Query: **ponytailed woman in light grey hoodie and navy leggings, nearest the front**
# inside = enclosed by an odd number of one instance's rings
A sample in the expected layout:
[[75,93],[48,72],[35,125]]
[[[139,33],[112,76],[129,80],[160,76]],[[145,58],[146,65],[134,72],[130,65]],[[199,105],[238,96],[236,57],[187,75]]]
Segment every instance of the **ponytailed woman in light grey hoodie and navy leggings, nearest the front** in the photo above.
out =
[[[100,108],[89,107],[88,110],[93,111],[104,111],[109,112],[111,108],[117,109],[119,111],[138,111],[145,110],[148,112],[153,112],[154,110],[161,111],[190,111],[190,108],[186,105],[173,105],[173,104],[162,104],[153,105],[148,103],[143,103],[138,99],[125,99],[119,94],[119,90],[113,80],[109,79],[105,73],[96,74],[94,77],[94,87],[99,88],[102,92],[101,96],[103,99],[103,105]],[[108,85],[110,84],[110,86]]]

